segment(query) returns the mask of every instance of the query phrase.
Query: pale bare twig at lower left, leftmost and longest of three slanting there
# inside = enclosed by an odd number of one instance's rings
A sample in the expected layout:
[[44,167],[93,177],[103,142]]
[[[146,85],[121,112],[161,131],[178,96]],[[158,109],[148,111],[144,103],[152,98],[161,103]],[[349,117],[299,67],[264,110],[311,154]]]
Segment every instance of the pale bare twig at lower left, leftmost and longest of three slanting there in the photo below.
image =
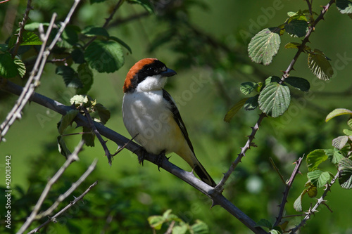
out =
[[43,190],[43,193],[42,193],[42,195],[40,195],[39,200],[37,201],[37,204],[35,204],[32,213],[30,214],[30,216],[27,218],[27,220],[25,221],[23,226],[20,228],[20,230],[18,230],[17,233],[23,233],[30,226],[30,224],[34,221],[34,219],[36,219],[36,216],[39,212],[39,209],[40,209],[40,207],[42,207],[42,204],[45,200],[45,197],[48,195],[49,190],[51,189],[51,186],[53,186],[54,183],[58,180],[58,178],[61,177],[61,175],[63,174],[65,169],[67,169],[68,166],[70,166],[71,162],[79,160],[77,155],[78,155],[78,152],[80,152],[80,150],[82,149],[83,144],[84,144],[84,141],[80,141],[80,143],[77,145],[77,147],[75,148],[73,153],[68,156],[68,159],[62,165],[62,167],[60,169],[58,169],[58,171],[56,171],[56,174],[48,181],[48,183],[46,183],[46,186]]

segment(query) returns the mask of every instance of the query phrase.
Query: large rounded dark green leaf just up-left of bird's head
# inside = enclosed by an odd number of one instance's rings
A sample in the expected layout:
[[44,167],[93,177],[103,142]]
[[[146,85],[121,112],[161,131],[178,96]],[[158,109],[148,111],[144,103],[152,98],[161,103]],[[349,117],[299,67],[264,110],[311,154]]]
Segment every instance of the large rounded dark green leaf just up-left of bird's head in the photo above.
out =
[[98,72],[115,72],[125,63],[122,48],[116,41],[93,41],[84,51],[84,59]]

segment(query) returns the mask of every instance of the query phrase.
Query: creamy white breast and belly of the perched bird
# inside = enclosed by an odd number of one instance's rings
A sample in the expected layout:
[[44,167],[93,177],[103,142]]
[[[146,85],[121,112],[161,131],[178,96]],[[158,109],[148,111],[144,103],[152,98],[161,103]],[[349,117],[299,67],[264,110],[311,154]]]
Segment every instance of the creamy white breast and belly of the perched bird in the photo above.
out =
[[163,90],[125,93],[122,117],[127,131],[146,151],[177,152],[184,137],[173,119],[170,104],[163,98]]

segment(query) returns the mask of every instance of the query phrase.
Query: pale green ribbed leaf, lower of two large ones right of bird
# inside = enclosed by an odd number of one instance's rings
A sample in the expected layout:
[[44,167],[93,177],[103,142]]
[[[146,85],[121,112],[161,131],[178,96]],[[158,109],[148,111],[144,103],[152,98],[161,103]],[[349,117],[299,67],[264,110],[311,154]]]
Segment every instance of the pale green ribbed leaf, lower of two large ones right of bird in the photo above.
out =
[[279,117],[284,114],[287,108],[289,108],[290,101],[289,87],[276,82],[265,86],[258,98],[260,110],[272,117]]

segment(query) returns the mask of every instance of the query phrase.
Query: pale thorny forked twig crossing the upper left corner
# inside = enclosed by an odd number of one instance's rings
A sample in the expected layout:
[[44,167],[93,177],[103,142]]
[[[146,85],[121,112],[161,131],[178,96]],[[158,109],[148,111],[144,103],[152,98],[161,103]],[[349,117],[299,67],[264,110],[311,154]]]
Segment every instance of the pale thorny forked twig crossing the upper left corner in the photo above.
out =
[[[23,89],[23,93],[21,93],[17,102],[13,106],[13,109],[11,110],[11,112],[8,113],[6,119],[4,120],[4,122],[0,126],[0,142],[4,141],[4,136],[6,135],[8,129],[13,124],[13,122],[15,122],[15,119],[20,119],[21,111],[23,110],[23,108],[27,104],[30,96],[34,92],[34,89],[37,86],[39,86],[39,79],[42,76],[42,72],[43,72],[44,66],[46,64],[46,59],[48,58],[51,49],[54,48],[56,42],[60,38],[63,30],[65,29],[66,25],[70,21],[70,18],[73,15],[73,12],[75,11],[75,8],[77,7],[77,5],[79,3],[80,3],[80,0],[75,0],[75,3],[71,7],[70,12],[68,13],[68,15],[65,18],[65,21],[61,25],[60,30],[58,30],[56,37],[51,42],[50,46],[45,49],[46,43],[49,39],[49,34],[51,32],[52,27],[54,26],[54,22],[56,19],[56,13],[54,13],[53,16],[51,17],[51,22],[49,24],[48,30],[46,31],[46,35],[45,35],[43,44],[40,48],[38,58],[35,61],[35,64],[32,69],[32,72],[30,74],[30,77],[28,78],[27,84],[25,85],[25,89]],[[23,25],[23,27],[25,27],[25,26]],[[45,49],[45,51],[44,51],[44,49]]]

